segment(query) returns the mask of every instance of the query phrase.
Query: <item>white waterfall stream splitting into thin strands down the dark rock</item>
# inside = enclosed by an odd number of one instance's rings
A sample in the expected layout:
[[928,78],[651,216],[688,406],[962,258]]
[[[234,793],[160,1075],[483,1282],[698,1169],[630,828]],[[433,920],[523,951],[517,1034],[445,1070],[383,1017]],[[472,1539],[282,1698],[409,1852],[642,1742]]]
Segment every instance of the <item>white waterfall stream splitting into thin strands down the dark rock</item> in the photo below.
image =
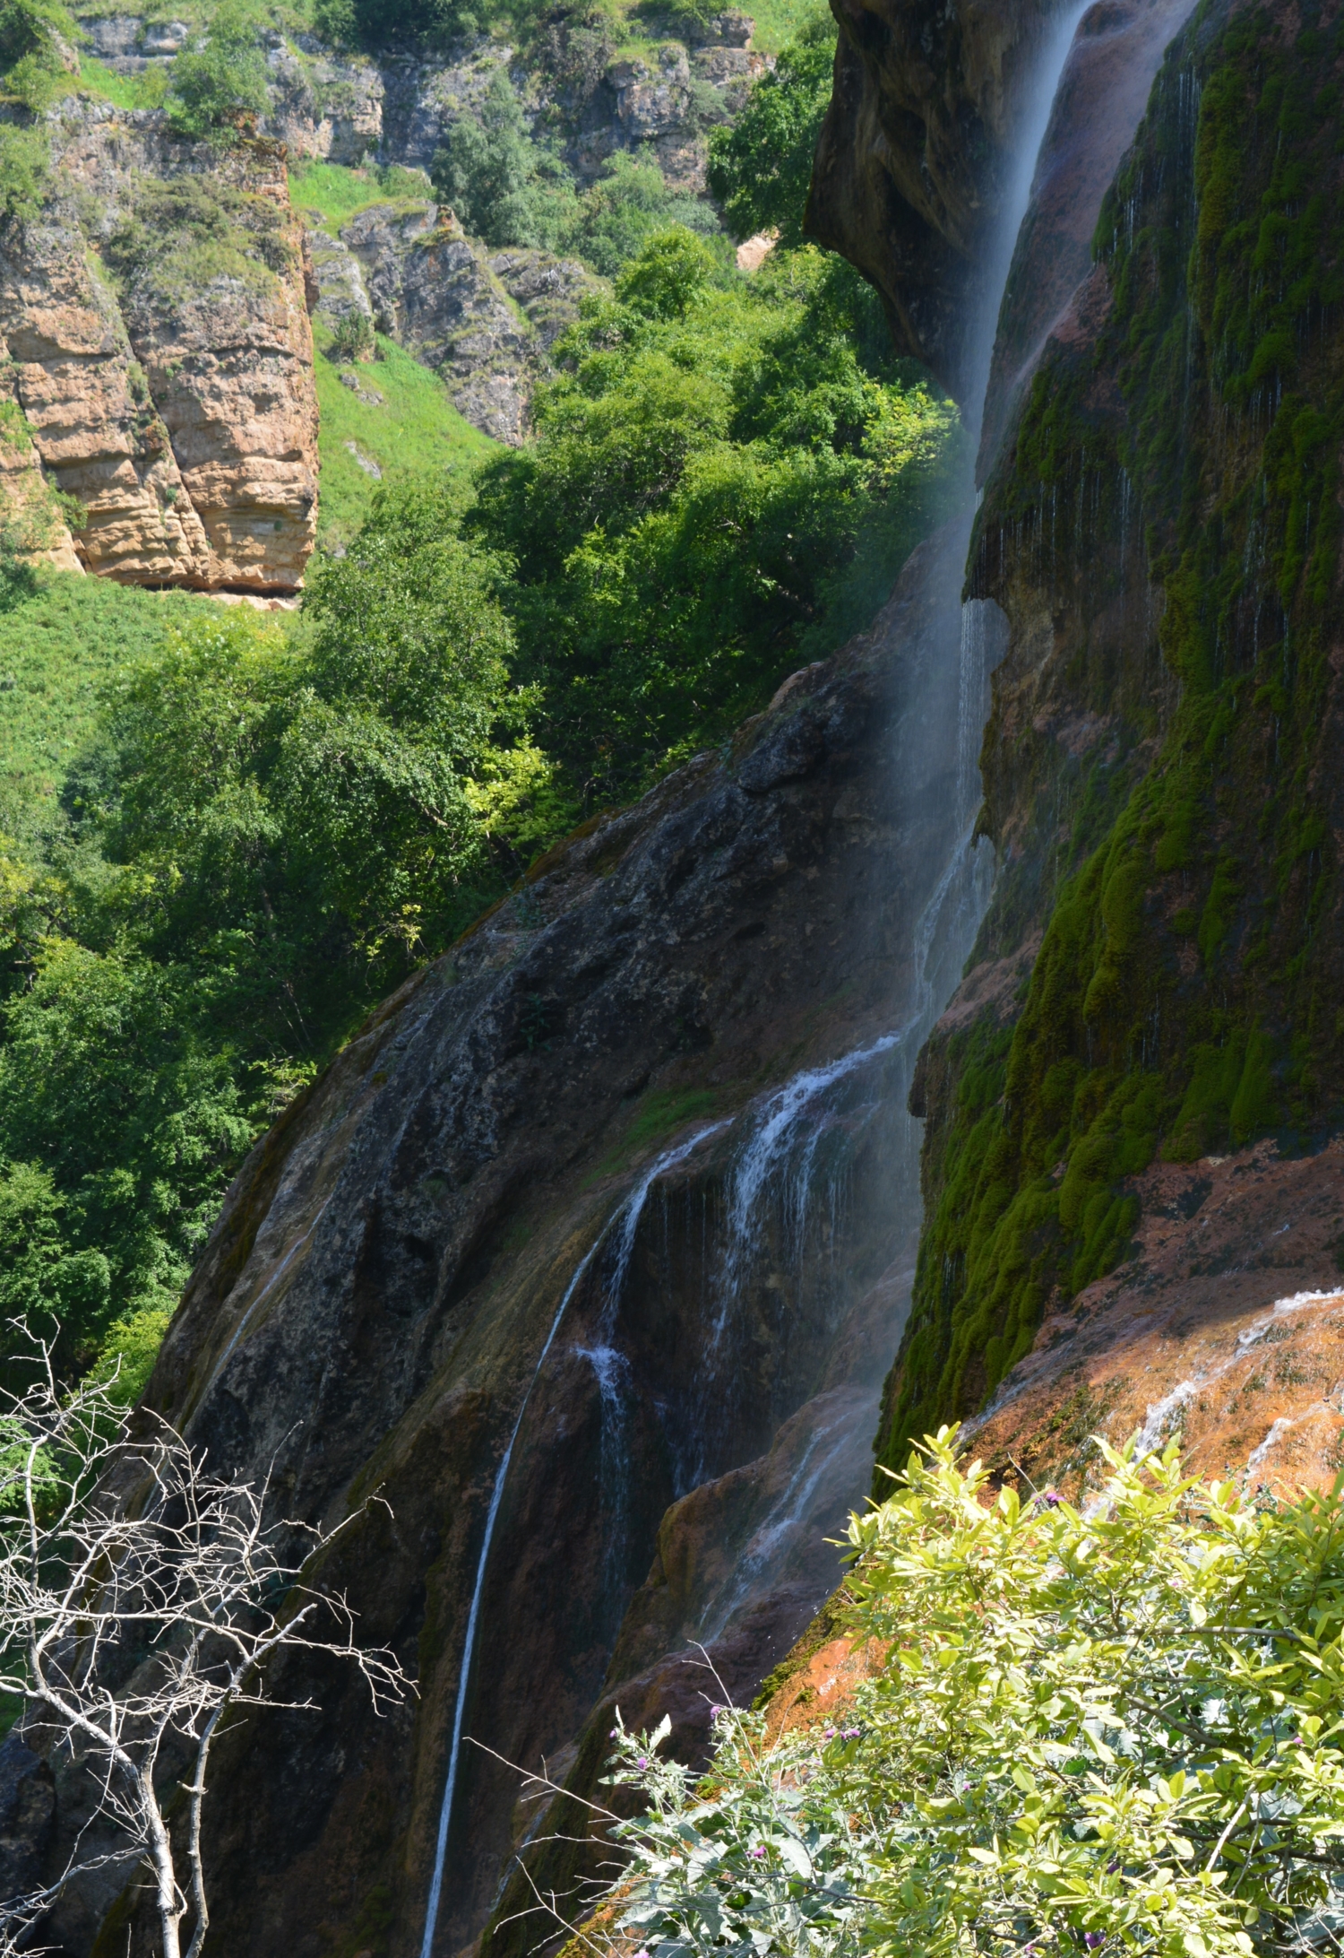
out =
[[[1013,245],[1027,211],[1037,155],[1047,131],[1058,78],[1082,14],[1084,4],[1074,0],[1074,4],[1047,23],[1035,53],[1033,84],[1029,88],[1029,100],[1021,117],[1019,145],[1004,192],[1002,221],[996,235],[990,239],[982,264],[982,303],[972,307],[966,321],[966,343],[963,350],[963,372],[968,376],[964,419],[972,435],[978,433],[982,419],[994,333],[1004,288],[1008,284]],[[966,486],[966,495],[970,497],[970,484]],[[933,556],[929,562],[935,566],[939,576],[953,576],[957,580],[953,591],[945,595],[945,603],[955,607],[963,576],[961,560],[943,554]],[[575,1347],[575,1353],[591,1365],[601,1400],[601,1486],[606,1502],[610,1504],[610,1514],[605,1515],[605,1529],[608,1533],[606,1561],[610,1574],[616,1576],[616,1566],[624,1561],[626,1515],[622,1502],[626,1498],[622,1490],[628,1425],[626,1402],[632,1392],[630,1365],[616,1343],[618,1312],[640,1222],[644,1218],[648,1198],[659,1179],[667,1177],[669,1171],[683,1165],[693,1151],[700,1149],[710,1138],[722,1134],[730,1126],[734,1126],[741,1136],[741,1143],[738,1145],[726,1175],[724,1249],[712,1273],[712,1320],[706,1329],[706,1353],[702,1357],[698,1384],[702,1406],[696,1422],[693,1422],[698,1429],[698,1443],[696,1453],[689,1455],[681,1465],[681,1472],[677,1474],[679,1492],[683,1492],[685,1486],[694,1486],[696,1478],[704,1478],[708,1472],[708,1404],[714,1400],[716,1386],[722,1384],[718,1380],[722,1369],[730,1367],[734,1361],[732,1341],[728,1341],[726,1333],[734,1302],[739,1296],[747,1271],[761,1249],[767,1200],[777,1202],[784,1218],[792,1220],[794,1263],[800,1265],[806,1249],[808,1218],[818,1204],[818,1163],[822,1138],[828,1132],[828,1126],[835,1122],[849,1122],[851,1128],[859,1128],[876,1108],[886,1108],[888,1112],[898,1110],[900,1120],[908,1126],[908,1134],[904,1136],[900,1151],[902,1187],[892,1190],[890,1198],[892,1202],[908,1206],[912,1214],[918,1208],[919,1130],[914,1118],[904,1114],[904,1106],[914,1073],[914,1061],[933,1022],[961,979],[961,971],[970,956],[990,899],[994,856],[990,846],[986,842],[976,842],[974,836],[980,805],[978,754],[990,705],[990,674],[1004,650],[1006,621],[998,607],[992,601],[966,601],[961,607],[961,642],[957,652],[957,726],[955,766],[951,769],[951,801],[955,803],[955,809],[945,811],[951,818],[947,822],[947,830],[955,840],[947,850],[939,875],[933,881],[931,895],[923,903],[923,909],[914,924],[912,991],[906,1001],[902,1024],[896,1030],[851,1049],[826,1067],[804,1069],[784,1083],[784,1087],[763,1096],[759,1104],[743,1110],[741,1116],[730,1118],[730,1122],[716,1122],[700,1128],[693,1136],[679,1142],[673,1149],[659,1155],[606,1220],[599,1237],[585,1253],[565,1286],[556,1316],[550,1322],[550,1331],[546,1333],[536,1367],[532,1369],[528,1386],[515,1414],[509,1441],[495,1470],[489,1510],[485,1515],[485,1531],[475,1562],[475,1582],[471,1588],[471,1604],[462,1645],[458,1690],[448,1741],[448,1770],[438,1811],[434,1868],[425,1913],[421,1958],[432,1958],[434,1933],[438,1929],[448,1837],[454,1819],[454,1797],[458,1792],[462,1764],[464,1717],[479,1635],[481,1598],[495,1525],[499,1521],[505,1484],[509,1480],[509,1468],[532,1390],[536,1388],[546,1359],[556,1343],[569,1304],[587,1273],[595,1267],[599,1253],[605,1247],[610,1253],[606,1269],[603,1271],[599,1267],[603,1306],[597,1316],[591,1345]],[[861,1089],[867,1091],[869,1100],[855,1108],[853,1096]],[[831,1189],[831,1200],[833,1198],[835,1190]],[[738,1574],[734,1596],[728,1600],[726,1609],[732,1608],[736,1596],[749,1584],[753,1570],[757,1566],[763,1568],[765,1562],[769,1562],[773,1547],[781,1541],[788,1527],[796,1523],[798,1517],[808,1514],[808,1502],[812,1500],[818,1478],[826,1474],[828,1463],[833,1459],[835,1451],[847,1445],[849,1437],[841,1435],[837,1441],[828,1429],[818,1429],[808,1437],[808,1445],[794,1463],[775,1510],[761,1521],[751,1539],[749,1553],[743,1559],[743,1570]],[[720,1619],[722,1615],[724,1613],[720,1611]]]

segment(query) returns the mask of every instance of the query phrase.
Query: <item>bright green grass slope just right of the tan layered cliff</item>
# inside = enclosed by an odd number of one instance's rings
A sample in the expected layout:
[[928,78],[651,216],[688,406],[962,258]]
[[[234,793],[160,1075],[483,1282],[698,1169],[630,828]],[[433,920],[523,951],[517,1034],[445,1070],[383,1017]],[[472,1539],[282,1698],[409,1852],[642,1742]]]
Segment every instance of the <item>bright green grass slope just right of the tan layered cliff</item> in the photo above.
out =
[[395,341],[380,333],[381,358],[352,370],[368,392],[383,396],[381,407],[370,407],[340,386],[342,368],[325,354],[331,331],[321,319],[313,321],[313,337],[319,345],[313,366],[321,411],[317,540],[325,548],[350,542],[378,490],[378,482],[358,466],[346,443],[378,462],[383,482],[460,468],[497,446],[489,435],[462,419],[438,374],[413,360]]

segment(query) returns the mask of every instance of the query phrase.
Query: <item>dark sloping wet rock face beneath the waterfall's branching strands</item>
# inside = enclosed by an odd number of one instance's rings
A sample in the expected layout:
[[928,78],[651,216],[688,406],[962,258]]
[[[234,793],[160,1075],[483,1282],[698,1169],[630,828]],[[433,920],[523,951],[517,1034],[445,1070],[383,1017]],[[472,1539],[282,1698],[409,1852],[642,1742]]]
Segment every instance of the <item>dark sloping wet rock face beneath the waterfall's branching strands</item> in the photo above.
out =
[[[964,529],[929,554],[955,591]],[[295,1670],[321,1711],[227,1745],[225,1948],[419,1950],[515,1429],[466,1700],[507,1760],[583,1792],[612,1692],[702,1747],[683,1641],[745,1694],[833,1586],[910,1282],[900,1028],[951,842],[955,634],[914,576],[732,752],[556,850],[245,1165],[151,1400],[219,1467],[274,1461],[286,1512],[383,1492],[325,1578],[421,1698],[378,1721]],[[518,1792],[468,1748],[434,1952],[511,1915]]]

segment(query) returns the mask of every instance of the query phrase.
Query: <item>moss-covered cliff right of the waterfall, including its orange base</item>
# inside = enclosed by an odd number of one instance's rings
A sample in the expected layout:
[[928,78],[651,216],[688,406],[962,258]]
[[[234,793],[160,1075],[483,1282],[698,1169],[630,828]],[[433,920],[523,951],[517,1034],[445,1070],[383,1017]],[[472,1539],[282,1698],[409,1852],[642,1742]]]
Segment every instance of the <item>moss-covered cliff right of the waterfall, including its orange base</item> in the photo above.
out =
[[1287,8],[1178,35],[986,486],[1002,869],[916,1085],[888,1461],[986,1402],[1033,1476],[1094,1427],[1336,1461],[1342,51]]

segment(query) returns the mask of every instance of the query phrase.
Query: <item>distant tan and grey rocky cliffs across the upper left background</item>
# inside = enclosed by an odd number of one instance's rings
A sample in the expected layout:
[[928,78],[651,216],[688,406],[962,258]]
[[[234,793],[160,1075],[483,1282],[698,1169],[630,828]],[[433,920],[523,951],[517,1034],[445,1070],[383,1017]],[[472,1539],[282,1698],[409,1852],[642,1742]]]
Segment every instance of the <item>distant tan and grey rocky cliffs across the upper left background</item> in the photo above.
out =
[[[125,78],[170,70],[190,39],[129,14],[80,25]],[[560,131],[579,180],[638,149],[669,186],[700,192],[706,131],[767,67],[751,25],[728,10],[640,61],[616,59],[606,29],[560,22],[532,67],[487,37],[456,57],[370,59],[272,29],[260,133],[223,153],[72,74],[37,121],[41,210],[0,223],[14,540],[125,583],[293,593],[317,536],[309,309],[331,327],[368,317],[444,376],[473,427],[520,443],[550,347],[597,282],[577,260],[466,237],[423,172],[491,78],[515,72],[528,121]],[[399,164],[423,194],[403,182],[329,227],[290,204],[288,163],[305,159]]]

